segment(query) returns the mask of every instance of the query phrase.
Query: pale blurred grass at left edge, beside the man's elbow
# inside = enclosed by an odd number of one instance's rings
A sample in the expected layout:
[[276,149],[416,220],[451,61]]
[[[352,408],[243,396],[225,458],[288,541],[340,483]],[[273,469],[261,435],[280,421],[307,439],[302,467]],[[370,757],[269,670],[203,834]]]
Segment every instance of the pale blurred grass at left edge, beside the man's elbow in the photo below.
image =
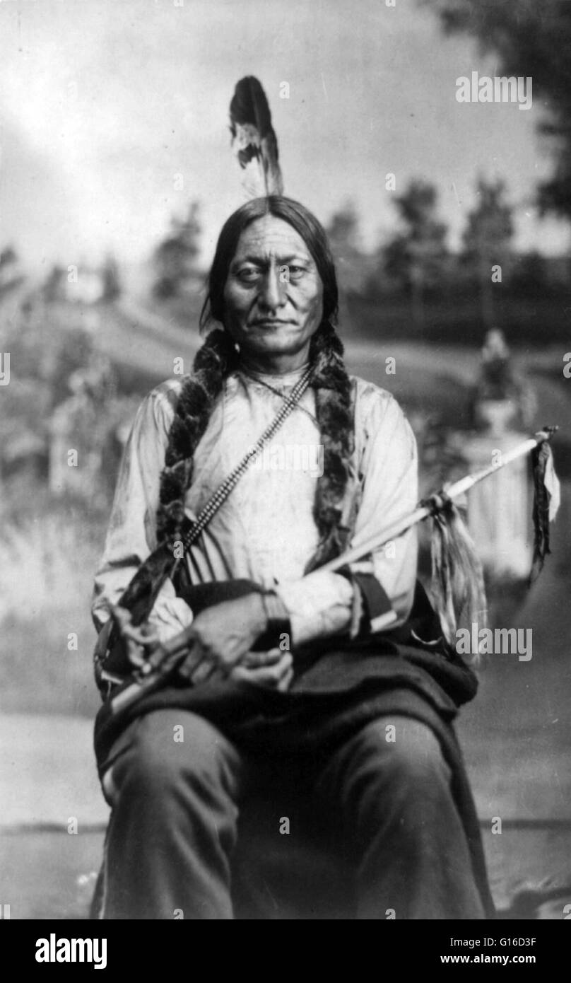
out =
[[2,514],[2,711],[91,717],[99,698],[89,601],[104,519],[45,490],[28,492],[37,514],[22,497]]

